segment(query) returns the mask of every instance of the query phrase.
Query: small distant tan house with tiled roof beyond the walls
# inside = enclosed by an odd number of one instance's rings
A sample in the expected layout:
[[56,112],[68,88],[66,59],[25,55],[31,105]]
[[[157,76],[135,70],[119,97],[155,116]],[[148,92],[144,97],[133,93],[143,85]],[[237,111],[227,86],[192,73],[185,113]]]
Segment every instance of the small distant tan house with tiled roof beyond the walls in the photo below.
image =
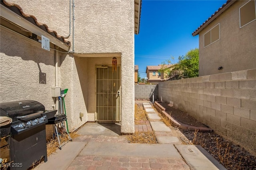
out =
[[[172,65],[167,64],[166,68],[169,68],[170,66]],[[158,71],[161,68],[162,68],[162,64],[159,64],[158,66],[147,66],[146,73],[147,73],[147,78],[149,83],[158,84],[159,82],[166,80],[166,74]]]

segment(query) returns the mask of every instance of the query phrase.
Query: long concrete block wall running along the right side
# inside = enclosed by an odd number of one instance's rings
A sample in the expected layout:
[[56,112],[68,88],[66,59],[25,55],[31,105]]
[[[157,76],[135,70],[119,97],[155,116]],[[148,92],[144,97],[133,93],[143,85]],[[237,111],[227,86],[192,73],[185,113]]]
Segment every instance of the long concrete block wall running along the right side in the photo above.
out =
[[161,82],[158,94],[256,155],[256,69]]

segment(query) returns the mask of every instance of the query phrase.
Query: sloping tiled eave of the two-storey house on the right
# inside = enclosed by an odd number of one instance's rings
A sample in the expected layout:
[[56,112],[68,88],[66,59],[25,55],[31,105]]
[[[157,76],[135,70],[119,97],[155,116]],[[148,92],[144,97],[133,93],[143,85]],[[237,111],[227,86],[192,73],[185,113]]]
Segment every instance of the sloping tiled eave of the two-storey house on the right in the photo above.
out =
[[226,4],[226,6],[224,6],[221,10],[219,10],[218,12],[216,12],[216,14],[213,14],[214,16],[210,17],[210,19],[208,18],[208,20],[205,21],[205,24],[203,23],[200,27],[198,27],[198,29],[196,29],[196,31],[194,31],[192,33],[193,36],[196,36],[199,34],[200,31],[202,31],[202,29],[204,29],[207,25],[209,25],[213,20],[215,20],[218,16],[220,16],[220,14],[222,14],[222,12],[224,12],[227,8],[229,8],[232,4],[234,4],[234,2],[236,2],[236,0],[230,0],[228,1],[228,4]]

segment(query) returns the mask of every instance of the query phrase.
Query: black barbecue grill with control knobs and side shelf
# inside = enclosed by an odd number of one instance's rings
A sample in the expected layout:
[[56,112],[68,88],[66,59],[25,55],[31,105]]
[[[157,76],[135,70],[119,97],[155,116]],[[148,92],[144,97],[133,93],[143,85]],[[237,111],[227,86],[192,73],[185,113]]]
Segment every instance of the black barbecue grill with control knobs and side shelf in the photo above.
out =
[[11,165],[26,170],[44,158],[47,161],[45,125],[57,110],[46,111],[44,105],[34,100],[5,102],[0,104],[0,116],[12,118],[12,123],[0,128],[0,137],[6,137],[10,149]]

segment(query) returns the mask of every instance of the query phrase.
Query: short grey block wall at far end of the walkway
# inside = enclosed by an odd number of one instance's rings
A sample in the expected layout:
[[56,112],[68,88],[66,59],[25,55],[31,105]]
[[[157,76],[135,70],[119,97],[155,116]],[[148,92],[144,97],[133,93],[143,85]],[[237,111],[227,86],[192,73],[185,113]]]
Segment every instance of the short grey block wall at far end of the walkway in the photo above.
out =
[[154,98],[158,98],[158,85],[157,84],[136,84],[135,85],[135,99],[150,99],[154,93]]

